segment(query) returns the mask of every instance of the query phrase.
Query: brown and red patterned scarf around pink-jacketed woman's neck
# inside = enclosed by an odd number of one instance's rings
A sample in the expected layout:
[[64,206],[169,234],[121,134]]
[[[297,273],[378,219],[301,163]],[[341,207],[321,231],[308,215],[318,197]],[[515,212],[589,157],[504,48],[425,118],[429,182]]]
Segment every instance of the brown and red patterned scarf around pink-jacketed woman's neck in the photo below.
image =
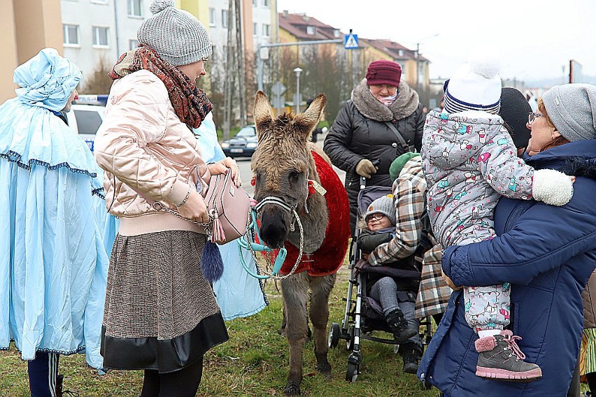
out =
[[108,75],[118,80],[125,75],[140,71],[150,71],[164,82],[176,115],[189,129],[198,128],[213,104],[207,99],[205,92],[197,88],[180,69],[159,58],[157,52],[146,44],[125,52]]

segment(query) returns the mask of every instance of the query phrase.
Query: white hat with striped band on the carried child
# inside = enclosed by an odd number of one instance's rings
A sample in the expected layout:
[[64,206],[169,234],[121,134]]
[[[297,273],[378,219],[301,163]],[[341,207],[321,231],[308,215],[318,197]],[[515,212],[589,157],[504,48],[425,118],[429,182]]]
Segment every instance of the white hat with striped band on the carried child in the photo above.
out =
[[501,107],[500,66],[496,59],[484,57],[457,68],[445,83],[447,113],[484,110],[497,114]]

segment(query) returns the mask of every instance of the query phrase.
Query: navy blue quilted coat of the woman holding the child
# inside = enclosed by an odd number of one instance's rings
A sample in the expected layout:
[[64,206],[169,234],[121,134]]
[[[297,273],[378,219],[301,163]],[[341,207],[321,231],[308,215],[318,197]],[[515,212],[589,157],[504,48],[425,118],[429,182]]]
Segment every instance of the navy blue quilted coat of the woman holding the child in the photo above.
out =
[[477,377],[478,336],[456,291],[418,368],[420,379],[450,397],[564,397],[572,380],[583,329],[581,291],[596,267],[596,140],[553,147],[526,162],[578,176],[572,201],[553,207],[502,198],[495,210],[498,237],[447,247],[443,270],[456,285],[511,282],[513,334],[523,338],[518,345],[543,377],[532,383]]

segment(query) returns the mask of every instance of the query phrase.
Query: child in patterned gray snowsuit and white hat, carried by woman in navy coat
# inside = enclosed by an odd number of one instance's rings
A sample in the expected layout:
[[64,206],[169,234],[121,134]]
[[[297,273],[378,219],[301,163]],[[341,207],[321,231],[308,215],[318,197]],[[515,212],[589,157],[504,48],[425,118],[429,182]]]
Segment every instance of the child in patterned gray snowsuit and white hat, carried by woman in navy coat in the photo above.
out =
[[[427,115],[423,169],[427,210],[441,244],[466,245],[495,236],[493,211],[500,196],[565,205],[573,180],[554,170],[534,170],[517,156],[497,112],[501,79],[492,64],[465,64],[446,82],[445,109]],[[539,366],[523,361],[509,324],[509,283],[464,287],[465,317],[476,340],[476,375],[531,382]]]

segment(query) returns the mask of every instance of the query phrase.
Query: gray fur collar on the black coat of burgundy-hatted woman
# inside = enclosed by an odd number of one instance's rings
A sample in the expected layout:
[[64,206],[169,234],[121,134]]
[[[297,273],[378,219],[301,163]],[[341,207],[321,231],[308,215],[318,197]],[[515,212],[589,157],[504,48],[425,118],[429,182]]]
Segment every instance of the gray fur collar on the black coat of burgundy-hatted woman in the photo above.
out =
[[394,118],[402,120],[414,113],[419,103],[418,93],[402,81],[399,83],[397,99],[387,107],[371,94],[365,78],[353,89],[352,101],[364,117],[378,122],[390,122]]

